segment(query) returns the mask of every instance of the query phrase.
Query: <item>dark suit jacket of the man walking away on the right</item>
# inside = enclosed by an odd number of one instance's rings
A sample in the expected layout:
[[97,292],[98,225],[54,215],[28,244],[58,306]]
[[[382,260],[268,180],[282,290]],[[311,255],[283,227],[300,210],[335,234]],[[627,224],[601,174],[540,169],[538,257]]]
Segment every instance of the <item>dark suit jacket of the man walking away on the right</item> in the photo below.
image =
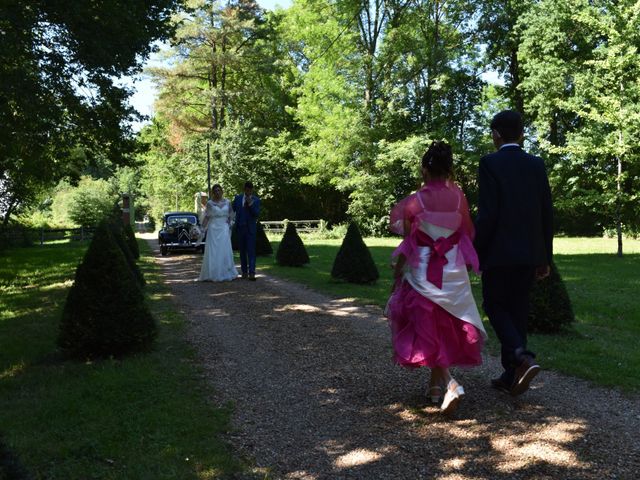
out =
[[542,159],[504,147],[480,159],[478,184],[480,268],[550,265],[553,211]]

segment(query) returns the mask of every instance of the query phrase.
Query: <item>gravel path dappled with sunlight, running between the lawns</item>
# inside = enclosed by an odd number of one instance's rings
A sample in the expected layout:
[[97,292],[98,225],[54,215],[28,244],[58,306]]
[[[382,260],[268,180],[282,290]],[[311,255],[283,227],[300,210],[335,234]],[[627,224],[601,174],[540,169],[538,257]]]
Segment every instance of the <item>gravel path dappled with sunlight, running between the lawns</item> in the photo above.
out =
[[488,388],[486,356],[454,373],[467,395],[447,419],[425,370],[390,362],[379,308],[264,275],[197,283],[197,254],[157,261],[214,400],[235,404],[228,440],[255,465],[242,478],[640,478],[637,396],[544,371],[511,398]]

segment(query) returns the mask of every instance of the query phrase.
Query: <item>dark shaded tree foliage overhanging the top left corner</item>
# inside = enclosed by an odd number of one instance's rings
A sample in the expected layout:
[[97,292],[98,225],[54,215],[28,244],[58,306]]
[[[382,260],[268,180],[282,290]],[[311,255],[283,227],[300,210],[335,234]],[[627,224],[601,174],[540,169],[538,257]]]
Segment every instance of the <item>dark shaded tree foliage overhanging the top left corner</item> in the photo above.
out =
[[[172,32],[180,0],[3,2],[0,187],[4,223],[35,192],[76,176],[84,158],[125,163],[137,118],[118,77]],[[86,156],[74,151],[81,147]]]

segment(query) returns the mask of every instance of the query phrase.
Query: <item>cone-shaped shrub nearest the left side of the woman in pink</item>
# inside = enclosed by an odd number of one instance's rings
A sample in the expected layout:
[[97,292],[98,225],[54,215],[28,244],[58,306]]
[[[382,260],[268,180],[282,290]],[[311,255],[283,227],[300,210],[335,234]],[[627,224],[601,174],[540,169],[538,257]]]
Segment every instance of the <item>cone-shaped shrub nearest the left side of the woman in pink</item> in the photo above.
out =
[[362,240],[360,229],[351,222],[331,269],[333,278],[350,283],[373,283],[380,274],[371,252]]

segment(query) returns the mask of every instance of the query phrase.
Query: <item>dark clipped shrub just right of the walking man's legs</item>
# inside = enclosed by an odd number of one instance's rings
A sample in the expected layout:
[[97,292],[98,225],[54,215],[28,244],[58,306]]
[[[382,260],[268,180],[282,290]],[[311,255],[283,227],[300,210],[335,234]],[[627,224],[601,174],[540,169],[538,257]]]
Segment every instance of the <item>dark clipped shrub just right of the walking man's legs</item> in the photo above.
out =
[[531,289],[530,302],[530,332],[556,333],[575,320],[569,294],[553,262],[549,276],[535,282]]

